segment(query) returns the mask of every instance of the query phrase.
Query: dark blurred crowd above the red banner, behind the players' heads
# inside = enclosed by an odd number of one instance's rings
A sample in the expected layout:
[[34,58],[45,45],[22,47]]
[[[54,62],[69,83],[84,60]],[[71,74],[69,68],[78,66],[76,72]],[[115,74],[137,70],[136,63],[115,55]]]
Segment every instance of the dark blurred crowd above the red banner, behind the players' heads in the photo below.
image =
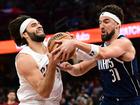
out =
[[37,18],[48,34],[98,27],[99,11],[107,4],[123,8],[124,23],[140,21],[140,0],[0,0],[0,40],[10,38],[7,24],[20,14]]

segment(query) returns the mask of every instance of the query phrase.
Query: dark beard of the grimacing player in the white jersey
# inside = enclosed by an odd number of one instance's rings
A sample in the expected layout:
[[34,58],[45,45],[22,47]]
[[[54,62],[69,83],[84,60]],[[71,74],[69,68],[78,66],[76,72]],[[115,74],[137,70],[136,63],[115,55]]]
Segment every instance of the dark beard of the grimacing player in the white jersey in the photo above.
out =
[[33,40],[33,41],[36,41],[36,42],[43,42],[46,35],[45,33],[41,34],[41,35],[37,35],[35,32],[27,32],[30,36],[30,38]]

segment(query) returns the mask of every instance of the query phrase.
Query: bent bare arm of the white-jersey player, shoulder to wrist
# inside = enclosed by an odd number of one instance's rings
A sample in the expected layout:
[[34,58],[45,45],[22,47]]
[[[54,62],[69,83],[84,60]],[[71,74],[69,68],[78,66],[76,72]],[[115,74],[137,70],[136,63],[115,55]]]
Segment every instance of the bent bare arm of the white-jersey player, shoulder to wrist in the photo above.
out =
[[19,73],[29,82],[37,93],[42,97],[49,97],[55,80],[56,63],[53,62],[53,60],[49,61],[48,69],[44,77],[30,55],[20,54],[16,59],[16,64]]

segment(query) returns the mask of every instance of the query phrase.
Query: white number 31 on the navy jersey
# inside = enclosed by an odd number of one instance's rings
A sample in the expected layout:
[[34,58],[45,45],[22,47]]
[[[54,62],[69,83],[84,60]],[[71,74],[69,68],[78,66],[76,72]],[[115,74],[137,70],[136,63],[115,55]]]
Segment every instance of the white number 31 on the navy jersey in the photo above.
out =
[[119,75],[119,72],[116,68],[113,68],[113,69],[110,69],[109,70],[112,74],[112,82],[116,82],[116,81],[120,81],[121,78],[120,78],[120,75]]

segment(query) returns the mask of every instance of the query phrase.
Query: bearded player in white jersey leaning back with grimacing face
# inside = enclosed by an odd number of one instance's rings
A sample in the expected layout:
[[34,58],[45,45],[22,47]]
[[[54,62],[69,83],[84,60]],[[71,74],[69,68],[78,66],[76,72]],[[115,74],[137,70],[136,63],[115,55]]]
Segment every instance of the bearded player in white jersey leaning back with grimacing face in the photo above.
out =
[[18,46],[25,44],[15,59],[19,105],[59,105],[63,91],[59,55],[49,54],[44,46],[42,25],[22,15],[9,23],[9,32]]

